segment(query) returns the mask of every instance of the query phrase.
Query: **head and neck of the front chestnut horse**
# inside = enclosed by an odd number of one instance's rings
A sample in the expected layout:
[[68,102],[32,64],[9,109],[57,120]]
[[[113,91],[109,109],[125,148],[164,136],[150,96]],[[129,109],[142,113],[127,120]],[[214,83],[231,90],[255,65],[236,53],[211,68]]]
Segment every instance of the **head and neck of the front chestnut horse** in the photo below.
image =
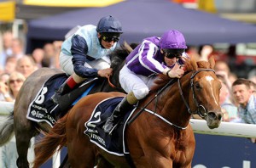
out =
[[[209,128],[217,128],[223,114],[219,104],[221,83],[213,70],[214,59],[195,62],[191,58],[185,62],[186,73],[182,78],[170,81],[168,76],[159,75],[154,80],[151,95],[160,95],[154,109],[177,128],[186,128],[191,115],[200,115]],[[172,86],[174,81],[177,84]]]

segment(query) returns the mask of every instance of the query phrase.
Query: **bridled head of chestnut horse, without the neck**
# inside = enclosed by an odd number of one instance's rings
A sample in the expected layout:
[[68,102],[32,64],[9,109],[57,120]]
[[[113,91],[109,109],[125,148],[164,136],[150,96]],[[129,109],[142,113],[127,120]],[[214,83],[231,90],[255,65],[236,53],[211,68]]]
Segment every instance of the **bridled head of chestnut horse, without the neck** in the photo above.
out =
[[213,57],[209,62],[195,63],[191,59],[186,64],[187,70],[191,70],[189,107],[187,108],[191,114],[200,115],[207,120],[207,126],[211,129],[217,128],[223,117],[219,104],[221,83],[213,70],[214,64]]

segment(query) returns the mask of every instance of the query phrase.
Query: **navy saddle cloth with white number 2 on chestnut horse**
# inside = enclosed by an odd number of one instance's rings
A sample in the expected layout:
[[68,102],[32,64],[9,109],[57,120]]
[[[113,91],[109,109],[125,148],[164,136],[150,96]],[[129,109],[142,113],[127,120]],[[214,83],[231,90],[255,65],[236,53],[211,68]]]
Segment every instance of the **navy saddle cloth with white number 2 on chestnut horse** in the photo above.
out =
[[119,120],[119,124],[113,129],[111,135],[105,133],[102,129],[108,117],[112,114],[113,109],[121,102],[123,97],[107,98],[100,104],[96,105],[90,115],[90,120],[85,122],[84,134],[90,137],[90,142],[95,143],[109,154],[125,156],[129,154],[125,149],[125,126],[134,109],[127,112],[123,118]]

